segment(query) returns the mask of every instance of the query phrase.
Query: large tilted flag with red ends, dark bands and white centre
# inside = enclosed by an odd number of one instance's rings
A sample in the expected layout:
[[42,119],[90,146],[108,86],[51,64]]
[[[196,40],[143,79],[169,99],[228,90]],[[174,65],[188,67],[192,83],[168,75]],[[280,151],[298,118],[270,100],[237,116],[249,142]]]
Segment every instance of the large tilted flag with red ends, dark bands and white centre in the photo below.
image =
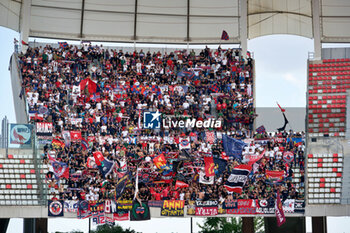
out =
[[252,167],[246,164],[235,166],[234,169],[232,169],[224,187],[229,192],[241,193],[244,184],[248,180],[248,175],[251,170]]

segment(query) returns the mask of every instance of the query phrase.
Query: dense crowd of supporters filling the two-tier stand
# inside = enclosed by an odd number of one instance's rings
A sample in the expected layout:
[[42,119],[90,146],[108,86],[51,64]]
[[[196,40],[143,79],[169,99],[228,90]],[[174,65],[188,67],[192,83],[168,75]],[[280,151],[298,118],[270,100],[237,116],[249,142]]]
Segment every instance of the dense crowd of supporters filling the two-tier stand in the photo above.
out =
[[[68,165],[69,178],[55,178],[51,165],[47,174],[50,192],[61,199],[131,200],[136,182],[137,197],[143,200],[267,199],[274,198],[277,189],[283,199],[304,198],[304,135],[253,131],[254,63],[243,59],[238,49],[162,54],[127,53],[89,43],[46,45],[29,47],[20,64],[31,121],[52,122],[55,140],[64,144],[46,145],[43,158],[49,165],[53,158]],[[145,111],[222,124],[144,129]],[[72,131],[79,132],[77,139],[66,134]],[[246,142],[240,158],[225,154],[223,135]],[[183,151],[179,144],[186,137],[190,148]],[[89,163],[96,151],[114,163],[113,172],[104,176]],[[294,156],[289,161],[283,158],[286,151]],[[226,190],[232,169],[261,153],[242,192]],[[219,169],[215,163],[213,181],[202,176],[203,156],[208,154],[224,164]],[[162,168],[154,162],[159,155],[166,159]],[[297,182],[294,169],[301,174]],[[273,179],[267,171],[283,171],[283,176]],[[125,176],[127,182],[120,186]]]

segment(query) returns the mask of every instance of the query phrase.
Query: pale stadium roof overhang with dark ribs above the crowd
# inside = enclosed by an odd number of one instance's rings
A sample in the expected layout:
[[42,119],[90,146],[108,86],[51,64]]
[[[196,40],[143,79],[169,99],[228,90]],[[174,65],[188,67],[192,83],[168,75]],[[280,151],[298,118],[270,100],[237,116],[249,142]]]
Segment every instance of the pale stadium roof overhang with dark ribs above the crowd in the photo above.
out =
[[[350,42],[348,0],[0,0],[0,25],[24,37],[227,43],[272,34]],[[26,32],[27,31],[27,32]]]

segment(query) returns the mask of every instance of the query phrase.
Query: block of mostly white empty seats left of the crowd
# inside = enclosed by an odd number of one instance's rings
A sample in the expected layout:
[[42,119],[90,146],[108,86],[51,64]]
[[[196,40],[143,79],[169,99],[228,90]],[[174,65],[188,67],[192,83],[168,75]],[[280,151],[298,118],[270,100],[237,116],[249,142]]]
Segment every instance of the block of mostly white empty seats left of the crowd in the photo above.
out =
[[8,155],[0,150],[0,206],[40,205],[40,200],[33,150],[9,149]]

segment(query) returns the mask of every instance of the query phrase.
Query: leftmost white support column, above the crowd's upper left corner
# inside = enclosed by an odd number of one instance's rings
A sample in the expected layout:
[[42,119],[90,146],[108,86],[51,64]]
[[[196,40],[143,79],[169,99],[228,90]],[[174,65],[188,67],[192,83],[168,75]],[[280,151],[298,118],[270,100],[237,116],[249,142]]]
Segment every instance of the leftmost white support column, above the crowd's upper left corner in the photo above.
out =
[[[22,0],[19,30],[21,33],[21,40],[26,43],[28,43],[29,38],[31,7],[32,0]],[[25,52],[27,48],[28,46],[22,45],[22,52]]]

